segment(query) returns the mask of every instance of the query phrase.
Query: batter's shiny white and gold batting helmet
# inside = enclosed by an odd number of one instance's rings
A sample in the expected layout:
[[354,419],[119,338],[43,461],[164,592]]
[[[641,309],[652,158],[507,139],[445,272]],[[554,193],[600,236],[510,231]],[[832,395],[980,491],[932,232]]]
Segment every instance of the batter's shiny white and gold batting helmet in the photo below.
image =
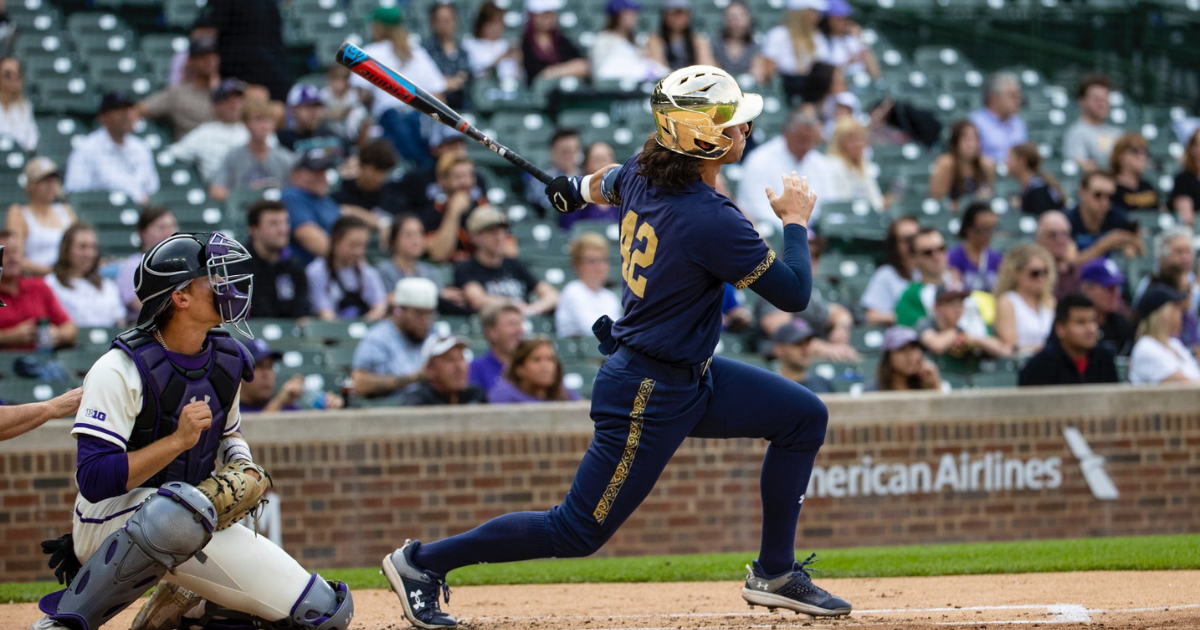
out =
[[743,92],[738,82],[719,67],[688,66],[654,86],[650,109],[660,145],[677,154],[718,160],[733,146],[725,128],[743,122],[752,126],[762,113],[762,96]]

